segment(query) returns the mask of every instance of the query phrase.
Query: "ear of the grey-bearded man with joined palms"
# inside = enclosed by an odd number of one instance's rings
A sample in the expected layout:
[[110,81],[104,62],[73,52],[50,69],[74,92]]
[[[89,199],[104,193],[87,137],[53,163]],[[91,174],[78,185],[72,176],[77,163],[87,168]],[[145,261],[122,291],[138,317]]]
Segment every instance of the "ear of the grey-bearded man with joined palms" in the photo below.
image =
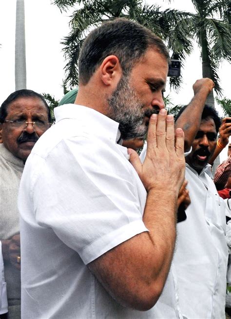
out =
[[121,78],[122,69],[117,56],[107,56],[99,68],[100,77],[105,85],[116,85]]

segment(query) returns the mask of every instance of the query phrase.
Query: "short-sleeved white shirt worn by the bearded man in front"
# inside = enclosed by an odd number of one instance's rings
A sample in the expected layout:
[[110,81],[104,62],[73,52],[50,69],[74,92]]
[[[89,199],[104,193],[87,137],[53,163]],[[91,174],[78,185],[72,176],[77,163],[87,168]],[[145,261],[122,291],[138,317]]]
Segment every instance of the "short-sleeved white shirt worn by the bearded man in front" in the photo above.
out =
[[147,231],[146,190],[116,144],[118,123],[72,104],[55,115],[19,188],[22,319],[154,318],[158,307],[120,306],[86,266]]

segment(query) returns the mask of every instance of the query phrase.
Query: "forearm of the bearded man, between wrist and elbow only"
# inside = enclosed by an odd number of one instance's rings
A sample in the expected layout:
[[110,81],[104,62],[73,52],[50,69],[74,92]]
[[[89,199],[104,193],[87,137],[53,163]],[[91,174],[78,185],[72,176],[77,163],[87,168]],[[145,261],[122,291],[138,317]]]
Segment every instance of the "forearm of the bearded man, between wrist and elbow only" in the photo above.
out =
[[143,217],[153,244],[151,263],[154,265],[150,278],[155,285],[160,285],[160,289],[164,286],[173,258],[178,193],[171,190],[167,196],[163,194],[166,194],[166,188],[153,189],[148,193]]

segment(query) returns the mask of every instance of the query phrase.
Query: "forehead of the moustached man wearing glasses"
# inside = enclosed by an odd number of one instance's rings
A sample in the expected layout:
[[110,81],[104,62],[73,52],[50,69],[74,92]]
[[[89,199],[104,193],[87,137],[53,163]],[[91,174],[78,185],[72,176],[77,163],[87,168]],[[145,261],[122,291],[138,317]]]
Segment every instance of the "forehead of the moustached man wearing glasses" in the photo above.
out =
[[22,114],[48,115],[43,101],[35,96],[22,96],[12,101],[7,107],[7,116]]

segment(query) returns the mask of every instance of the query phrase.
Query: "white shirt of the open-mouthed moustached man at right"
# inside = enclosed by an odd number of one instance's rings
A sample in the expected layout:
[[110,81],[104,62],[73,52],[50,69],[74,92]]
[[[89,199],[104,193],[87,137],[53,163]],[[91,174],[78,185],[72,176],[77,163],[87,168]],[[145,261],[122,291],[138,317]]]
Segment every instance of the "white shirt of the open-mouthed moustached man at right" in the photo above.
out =
[[198,173],[186,164],[191,205],[177,224],[173,263],[179,304],[188,319],[225,318],[228,248],[225,203],[211,178],[211,166]]

